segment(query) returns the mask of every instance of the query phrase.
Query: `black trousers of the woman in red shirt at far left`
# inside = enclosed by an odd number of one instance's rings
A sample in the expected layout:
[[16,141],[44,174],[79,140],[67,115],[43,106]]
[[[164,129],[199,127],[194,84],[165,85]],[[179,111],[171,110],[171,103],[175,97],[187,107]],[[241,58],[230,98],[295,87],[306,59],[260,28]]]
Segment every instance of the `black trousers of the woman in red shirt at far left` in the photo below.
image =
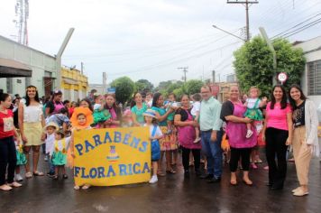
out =
[[0,139],[0,186],[5,184],[5,171],[8,167],[8,183],[14,182],[14,169],[17,164],[14,137]]

